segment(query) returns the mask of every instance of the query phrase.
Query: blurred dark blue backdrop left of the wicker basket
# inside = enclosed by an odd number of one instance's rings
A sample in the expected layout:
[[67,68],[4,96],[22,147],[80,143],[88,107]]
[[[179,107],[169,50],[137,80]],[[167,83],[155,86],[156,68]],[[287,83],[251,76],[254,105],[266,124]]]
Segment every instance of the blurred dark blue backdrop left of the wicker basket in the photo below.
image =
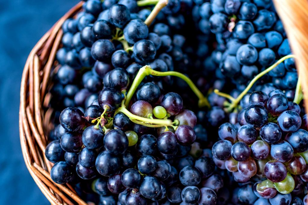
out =
[[49,204],[22,158],[19,89],[22,69],[35,43],[78,0],[0,0],[0,201]]

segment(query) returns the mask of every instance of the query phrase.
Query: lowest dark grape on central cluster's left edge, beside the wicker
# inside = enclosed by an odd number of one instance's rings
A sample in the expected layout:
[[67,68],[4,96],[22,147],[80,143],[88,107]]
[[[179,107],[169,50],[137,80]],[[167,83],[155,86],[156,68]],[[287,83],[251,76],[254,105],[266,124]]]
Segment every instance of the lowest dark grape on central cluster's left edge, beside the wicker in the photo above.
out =
[[57,162],[51,168],[50,176],[57,184],[67,183],[72,178],[71,166],[63,161]]

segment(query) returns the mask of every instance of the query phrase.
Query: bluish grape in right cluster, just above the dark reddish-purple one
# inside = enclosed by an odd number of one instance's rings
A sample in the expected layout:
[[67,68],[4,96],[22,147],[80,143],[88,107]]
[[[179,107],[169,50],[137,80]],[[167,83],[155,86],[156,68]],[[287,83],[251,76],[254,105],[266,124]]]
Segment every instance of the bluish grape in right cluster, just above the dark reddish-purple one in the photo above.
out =
[[270,155],[273,159],[282,163],[290,161],[293,157],[293,147],[286,141],[282,140],[278,143],[274,143],[271,146]]

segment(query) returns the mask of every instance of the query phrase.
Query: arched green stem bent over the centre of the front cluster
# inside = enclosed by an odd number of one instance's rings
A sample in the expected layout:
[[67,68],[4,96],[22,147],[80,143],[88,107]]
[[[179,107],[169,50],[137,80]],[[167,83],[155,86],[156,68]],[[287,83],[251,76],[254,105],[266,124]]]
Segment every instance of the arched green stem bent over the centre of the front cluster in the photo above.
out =
[[205,106],[210,107],[207,98],[201,93],[201,91],[197,88],[197,86],[193,83],[193,81],[190,78],[188,78],[186,75],[179,73],[179,72],[176,72],[176,71],[159,72],[159,71],[153,70],[151,68],[151,66],[148,66],[148,65],[140,68],[140,70],[138,71],[134,81],[132,82],[132,86],[128,90],[126,100],[125,100],[125,106],[126,107],[128,107],[128,104],[129,104],[130,100],[132,99],[132,96],[134,95],[137,87],[142,82],[144,77],[147,76],[147,75],[154,75],[154,76],[169,76],[169,75],[171,75],[171,76],[176,76],[176,77],[183,79],[188,84],[188,86],[193,90],[193,92],[197,95],[197,97],[199,98],[198,106],[199,107],[205,107]]

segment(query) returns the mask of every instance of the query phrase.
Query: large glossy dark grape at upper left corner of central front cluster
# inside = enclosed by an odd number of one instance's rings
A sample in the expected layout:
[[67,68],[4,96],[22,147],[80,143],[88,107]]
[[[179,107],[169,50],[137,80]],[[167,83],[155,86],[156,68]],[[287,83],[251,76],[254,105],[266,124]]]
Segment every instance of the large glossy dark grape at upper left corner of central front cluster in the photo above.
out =
[[83,113],[78,108],[65,108],[60,114],[60,123],[69,132],[80,131],[84,125]]

